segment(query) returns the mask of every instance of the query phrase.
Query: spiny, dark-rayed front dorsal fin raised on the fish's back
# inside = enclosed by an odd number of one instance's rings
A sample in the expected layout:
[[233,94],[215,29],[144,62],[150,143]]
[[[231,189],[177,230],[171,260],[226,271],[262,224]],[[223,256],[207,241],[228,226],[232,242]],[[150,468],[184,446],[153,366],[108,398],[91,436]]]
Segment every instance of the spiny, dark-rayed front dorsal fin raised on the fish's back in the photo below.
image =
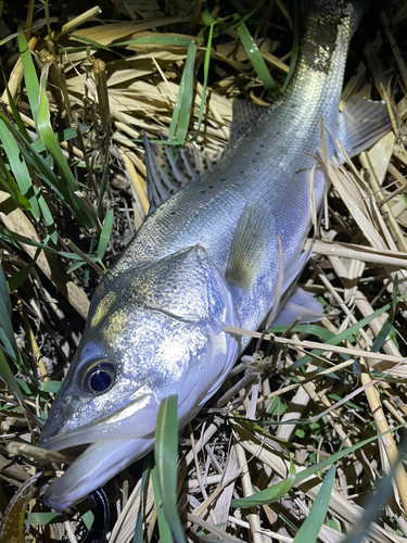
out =
[[143,142],[145,181],[150,202],[149,215],[187,182],[195,180],[213,166],[207,156],[201,156],[195,148],[151,143],[145,135],[143,135]]

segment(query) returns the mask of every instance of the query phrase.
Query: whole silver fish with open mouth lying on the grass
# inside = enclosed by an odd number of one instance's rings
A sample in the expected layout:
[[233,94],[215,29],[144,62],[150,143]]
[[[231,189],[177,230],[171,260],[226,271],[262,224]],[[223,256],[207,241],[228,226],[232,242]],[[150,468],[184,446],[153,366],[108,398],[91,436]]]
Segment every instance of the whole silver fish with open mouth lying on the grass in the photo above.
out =
[[[340,160],[335,138],[352,155],[389,126],[383,103],[361,98],[339,112],[363,4],[306,2],[287,91],[268,109],[234,101],[225,152],[190,182],[192,160],[182,167],[167,149],[163,166],[145,141],[149,216],[96,290],[40,438],[48,450],[84,449],[48,487],[48,506],[68,508],[145,455],[165,397],[177,394],[180,428],[199,413],[250,340],[226,326],[257,330],[275,302],[275,324],[323,316],[311,294],[290,290],[327,191],[315,159],[321,118],[327,153]],[[278,285],[291,293],[281,306]]]

